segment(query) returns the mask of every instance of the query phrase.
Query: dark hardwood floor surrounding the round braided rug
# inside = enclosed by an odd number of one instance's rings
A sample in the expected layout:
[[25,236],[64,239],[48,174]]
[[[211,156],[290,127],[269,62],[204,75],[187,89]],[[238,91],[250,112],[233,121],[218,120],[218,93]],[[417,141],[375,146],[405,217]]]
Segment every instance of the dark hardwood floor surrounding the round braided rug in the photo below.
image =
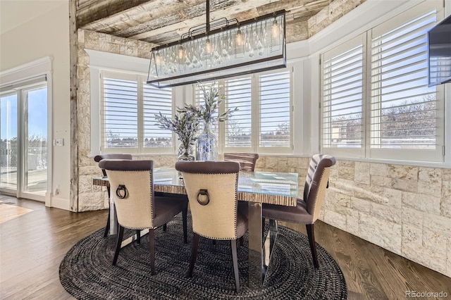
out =
[[[0,224],[0,299],[74,299],[59,282],[59,264],[78,240],[104,227],[107,211],[70,213],[1,194],[0,201],[32,210]],[[302,225],[287,226],[305,233]],[[451,299],[450,277],[325,223],[315,226],[316,242],[345,275],[349,299],[406,299],[406,291],[443,291]]]

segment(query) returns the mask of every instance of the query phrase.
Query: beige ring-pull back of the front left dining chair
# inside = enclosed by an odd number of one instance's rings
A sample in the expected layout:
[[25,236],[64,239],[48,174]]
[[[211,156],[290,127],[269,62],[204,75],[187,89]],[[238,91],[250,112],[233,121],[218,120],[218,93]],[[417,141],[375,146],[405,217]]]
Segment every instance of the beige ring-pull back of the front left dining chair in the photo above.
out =
[[104,159],[99,166],[108,175],[118,223],[131,229],[154,228],[154,162]]

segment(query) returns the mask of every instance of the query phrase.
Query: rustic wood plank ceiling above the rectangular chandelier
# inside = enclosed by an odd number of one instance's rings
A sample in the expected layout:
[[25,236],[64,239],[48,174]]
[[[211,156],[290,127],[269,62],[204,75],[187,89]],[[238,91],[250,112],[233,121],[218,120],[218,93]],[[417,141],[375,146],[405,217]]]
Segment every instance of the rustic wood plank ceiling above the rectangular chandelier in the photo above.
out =
[[[210,22],[249,20],[285,9],[287,42],[308,38],[307,20],[332,0],[211,0]],[[155,45],[206,23],[205,0],[77,0],[77,26]]]

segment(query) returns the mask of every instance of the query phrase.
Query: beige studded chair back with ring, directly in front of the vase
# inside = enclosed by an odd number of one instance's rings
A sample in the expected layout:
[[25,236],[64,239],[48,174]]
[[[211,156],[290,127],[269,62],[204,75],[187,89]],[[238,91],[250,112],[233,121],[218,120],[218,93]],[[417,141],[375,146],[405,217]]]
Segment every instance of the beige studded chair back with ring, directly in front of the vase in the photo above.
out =
[[190,201],[192,231],[210,239],[237,239],[240,163],[178,161],[175,169],[183,174]]

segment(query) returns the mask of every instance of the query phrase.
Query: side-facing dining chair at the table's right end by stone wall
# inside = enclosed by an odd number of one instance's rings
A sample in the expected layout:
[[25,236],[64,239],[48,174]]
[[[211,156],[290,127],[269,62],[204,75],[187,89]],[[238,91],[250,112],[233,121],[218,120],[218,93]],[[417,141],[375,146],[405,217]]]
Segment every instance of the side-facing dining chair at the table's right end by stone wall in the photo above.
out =
[[297,206],[273,204],[263,204],[262,206],[261,215],[264,219],[305,224],[315,268],[319,268],[319,263],[316,255],[314,223],[321,211],[326,188],[328,187],[330,167],[333,165],[335,165],[333,156],[315,154],[310,160],[304,185],[304,198],[297,199]]

